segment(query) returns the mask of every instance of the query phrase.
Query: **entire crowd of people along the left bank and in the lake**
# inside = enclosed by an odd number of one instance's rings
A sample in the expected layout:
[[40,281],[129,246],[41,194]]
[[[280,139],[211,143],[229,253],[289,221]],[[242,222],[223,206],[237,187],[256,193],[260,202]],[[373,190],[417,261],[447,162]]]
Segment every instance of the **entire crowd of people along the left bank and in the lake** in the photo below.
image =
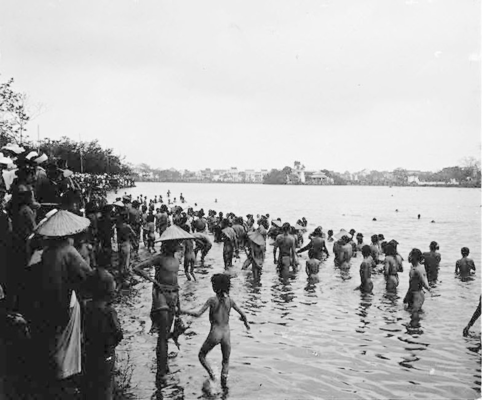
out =
[[[196,265],[204,263],[213,242],[222,245],[226,270],[244,254],[241,268],[251,268],[255,279],[261,276],[269,244],[281,274],[299,269],[299,254],[307,251],[304,269],[313,282],[328,257],[333,257],[336,267],[347,269],[361,253],[358,289],[366,293],[372,292],[374,273],[384,274],[387,292],[394,292],[404,270],[399,243],[382,233],[367,240],[356,229],[325,233],[318,226],[308,232],[305,217],[290,224],[268,213],[240,216],[210,209],[206,215],[196,203],[186,207],[182,193],[174,196],[170,191],[151,199],[124,193],[109,203],[107,190],[133,182],[86,174],[75,179],[61,160],[46,163],[44,154],[16,145],[5,146],[2,152],[0,331],[8,363],[0,371],[0,390],[8,387],[13,397],[29,391],[36,393],[32,398],[40,398],[38,393],[62,398],[65,385],[61,382],[68,378],[78,380],[85,398],[112,398],[115,347],[123,334],[111,301],[118,287],[136,283],[135,275],[153,284],[150,317],[151,331],[157,334],[156,382],[162,385],[167,379],[168,340],[178,344],[186,330],[181,315],[200,316],[209,309],[211,329],[199,360],[214,380],[206,354],[220,344],[221,384],[226,385],[231,308],[249,329],[246,315],[229,295],[229,274],[213,274],[215,295],[198,311],[181,306],[178,296],[180,265],[186,279],[196,280]],[[147,254],[139,254],[142,247]],[[141,260],[141,255],[147,258]],[[455,273],[463,279],[476,270],[469,255],[469,248],[462,247],[461,258],[454,260]],[[430,290],[429,282],[437,279],[440,261],[435,241],[429,251],[410,251],[409,288],[403,302],[411,311],[422,307],[424,290]],[[480,313],[479,302],[464,335]]]

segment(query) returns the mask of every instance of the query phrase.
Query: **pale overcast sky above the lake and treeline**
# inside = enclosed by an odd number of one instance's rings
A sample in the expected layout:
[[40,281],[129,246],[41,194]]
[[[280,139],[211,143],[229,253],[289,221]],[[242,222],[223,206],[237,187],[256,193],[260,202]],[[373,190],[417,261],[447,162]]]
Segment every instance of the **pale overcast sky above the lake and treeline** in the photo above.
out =
[[480,1],[2,0],[36,138],[153,167],[437,170],[481,151]]

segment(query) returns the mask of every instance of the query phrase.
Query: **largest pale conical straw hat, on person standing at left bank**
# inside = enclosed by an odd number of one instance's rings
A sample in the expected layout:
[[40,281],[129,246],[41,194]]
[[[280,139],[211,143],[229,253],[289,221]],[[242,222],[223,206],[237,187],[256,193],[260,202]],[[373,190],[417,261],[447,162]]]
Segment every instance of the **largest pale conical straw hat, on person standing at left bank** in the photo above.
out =
[[45,222],[39,224],[35,231],[42,236],[62,237],[79,233],[89,225],[88,218],[61,209],[53,213]]

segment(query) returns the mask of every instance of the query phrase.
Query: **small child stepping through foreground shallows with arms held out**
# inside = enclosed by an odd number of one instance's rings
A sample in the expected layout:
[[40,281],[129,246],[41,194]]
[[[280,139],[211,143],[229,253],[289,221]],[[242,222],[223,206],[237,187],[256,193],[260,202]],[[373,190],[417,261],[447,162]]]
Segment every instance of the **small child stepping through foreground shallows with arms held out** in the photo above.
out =
[[221,352],[223,354],[221,385],[224,386],[226,385],[226,380],[228,378],[229,355],[231,353],[231,340],[229,331],[229,311],[231,308],[234,308],[239,315],[241,315],[241,320],[244,322],[244,325],[248,330],[249,324],[244,312],[241,311],[234,300],[229,297],[229,289],[231,287],[229,276],[224,273],[215,273],[211,277],[211,283],[216,295],[214,297],[210,297],[199,311],[194,312],[182,310],[181,313],[192,316],[201,316],[204,311],[209,308],[211,329],[206,340],[204,340],[201,349],[199,350],[199,361],[201,362],[202,366],[206,368],[209,378],[211,380],[215,380],[213,371],[206,361],[206,355],[217,344],[221,344]]

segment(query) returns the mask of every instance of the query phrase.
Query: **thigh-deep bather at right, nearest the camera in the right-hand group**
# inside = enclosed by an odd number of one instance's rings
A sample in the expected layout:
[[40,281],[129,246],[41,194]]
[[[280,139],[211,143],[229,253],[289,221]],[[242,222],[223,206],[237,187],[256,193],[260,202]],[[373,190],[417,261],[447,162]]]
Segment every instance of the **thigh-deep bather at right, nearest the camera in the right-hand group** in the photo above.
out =
[[418,248],[412,249],[409,254],[409,262],[412,264],[410,268],[409,289],[404,298],[407,308],[414,311],[422,308],[425,301],[424,287],[429,290],[429,281],[427,280],[427,272],[425,271],[424,255]]

